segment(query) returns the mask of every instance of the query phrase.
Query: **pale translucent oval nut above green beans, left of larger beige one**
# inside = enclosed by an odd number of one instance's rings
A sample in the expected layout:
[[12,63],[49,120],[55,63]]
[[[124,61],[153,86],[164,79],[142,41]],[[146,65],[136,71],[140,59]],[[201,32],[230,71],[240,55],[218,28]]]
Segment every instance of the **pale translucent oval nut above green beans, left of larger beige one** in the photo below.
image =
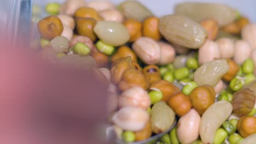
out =
[[123,45],[130,39],[127,28],[115,21],[97,22],[94,32],[104,43],[113,46]]

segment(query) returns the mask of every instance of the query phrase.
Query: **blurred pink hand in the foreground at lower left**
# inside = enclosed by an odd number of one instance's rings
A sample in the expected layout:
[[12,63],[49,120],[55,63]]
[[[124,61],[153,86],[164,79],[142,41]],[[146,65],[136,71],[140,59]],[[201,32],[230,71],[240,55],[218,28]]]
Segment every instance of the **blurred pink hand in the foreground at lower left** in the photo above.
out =
[[101,143],[106,90],[92,71],[56,67],[26,47],[0,49],[0,143]]

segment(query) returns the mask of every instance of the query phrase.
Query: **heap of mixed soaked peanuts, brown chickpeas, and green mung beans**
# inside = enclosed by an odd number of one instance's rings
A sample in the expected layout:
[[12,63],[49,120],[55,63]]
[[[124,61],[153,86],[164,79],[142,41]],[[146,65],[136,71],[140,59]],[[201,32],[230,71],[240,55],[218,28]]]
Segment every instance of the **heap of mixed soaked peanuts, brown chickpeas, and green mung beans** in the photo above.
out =
[[101,76],[117,139],[177,120],[158,143],[256,141],[256,24],[233,8],[187,2],[159,18],[137,1],[68,0],[46,11],[38,56]]

